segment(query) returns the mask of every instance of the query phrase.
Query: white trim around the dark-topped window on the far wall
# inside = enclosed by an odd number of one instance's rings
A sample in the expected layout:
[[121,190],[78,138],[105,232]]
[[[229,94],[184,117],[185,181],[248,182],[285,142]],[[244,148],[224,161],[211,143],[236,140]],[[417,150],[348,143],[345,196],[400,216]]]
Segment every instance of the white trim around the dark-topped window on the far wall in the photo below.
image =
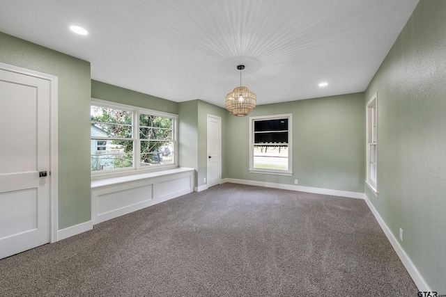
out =
[[[256,120],[274,120],[279,118],[288,119],[288,170],[259,169],[254,168],[254,122]],[[293,114],[284,113],[281,115],[259,115],[249,117],[249,172],[266,175],[293,175]]]

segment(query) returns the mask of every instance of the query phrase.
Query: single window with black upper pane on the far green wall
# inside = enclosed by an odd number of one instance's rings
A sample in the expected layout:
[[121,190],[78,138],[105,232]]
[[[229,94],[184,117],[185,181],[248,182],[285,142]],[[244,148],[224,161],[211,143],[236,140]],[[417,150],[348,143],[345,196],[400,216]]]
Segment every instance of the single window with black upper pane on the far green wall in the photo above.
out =
[[292,175],[292,115],[249,118],[249,172]]

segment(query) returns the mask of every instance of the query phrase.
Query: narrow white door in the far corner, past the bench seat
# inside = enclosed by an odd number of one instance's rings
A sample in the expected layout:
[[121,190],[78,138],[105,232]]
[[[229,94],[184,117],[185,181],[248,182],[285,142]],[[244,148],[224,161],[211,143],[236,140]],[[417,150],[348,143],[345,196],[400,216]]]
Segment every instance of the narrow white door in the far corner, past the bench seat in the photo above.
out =
[[222,175],[222,118],[208,115],[208,187],[220,184]]

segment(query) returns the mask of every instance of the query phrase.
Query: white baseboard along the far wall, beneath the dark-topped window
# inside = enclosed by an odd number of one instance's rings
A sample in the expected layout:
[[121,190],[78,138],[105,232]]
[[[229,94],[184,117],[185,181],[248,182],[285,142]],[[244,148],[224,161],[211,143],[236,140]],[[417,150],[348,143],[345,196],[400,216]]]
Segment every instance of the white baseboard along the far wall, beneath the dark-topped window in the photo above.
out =
[[226,182],[231,182],[233,184],[247,184],[249,186],[265,186],[267,188],[281,188],[282,190],[291,190],[291,191],[300,191],[306,193],[364,199],[364,193],[330,190],[328,188],[312,188],[310,186],[297,186],[293,184],[276,184],[273,182],[258,182],[247,179],[231,179],[231,178],[222,179],[222,184]]

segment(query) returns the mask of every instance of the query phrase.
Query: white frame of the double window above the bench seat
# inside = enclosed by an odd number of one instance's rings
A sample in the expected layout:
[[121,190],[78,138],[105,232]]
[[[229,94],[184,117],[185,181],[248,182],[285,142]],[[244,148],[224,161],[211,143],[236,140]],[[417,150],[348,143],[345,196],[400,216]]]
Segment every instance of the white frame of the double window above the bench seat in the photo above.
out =
[[[155,111],[152,109],[144,109],[138,106],[132,106],[128,104],[121,104],[116,102],[109,102],[107,100],[91,98],[90,106],[100,106],[109,109],[118,109],[123,111],[132,112],[132,137],[126,138],[129,141],[133,142],[133,164],[132,167],[128,168],[115,168],[109,170],[97,170],[91,171],[91,177],[99,178],[100,177],[119,177],[125,175],[133,175],[144,172],[153,172],[160,170],[168,170],[173,168],[178,168],[178,115],[174,113],[165,113],[162,111]],[[139,138],[139,115],[140,114],[148,114],[155,115],[162,118],[171,118],[172,120],[172,140],[174,151],[172,152],[172,163],[169,164],[156,164],[153,166],[141,167],[140,165],[140,155],[141,155],[141,141],[148,141],[147,139]],[[111,140],[114,138],[106,138],[106,137],[98,137],[98,136],[90,136],[91,140]]]

